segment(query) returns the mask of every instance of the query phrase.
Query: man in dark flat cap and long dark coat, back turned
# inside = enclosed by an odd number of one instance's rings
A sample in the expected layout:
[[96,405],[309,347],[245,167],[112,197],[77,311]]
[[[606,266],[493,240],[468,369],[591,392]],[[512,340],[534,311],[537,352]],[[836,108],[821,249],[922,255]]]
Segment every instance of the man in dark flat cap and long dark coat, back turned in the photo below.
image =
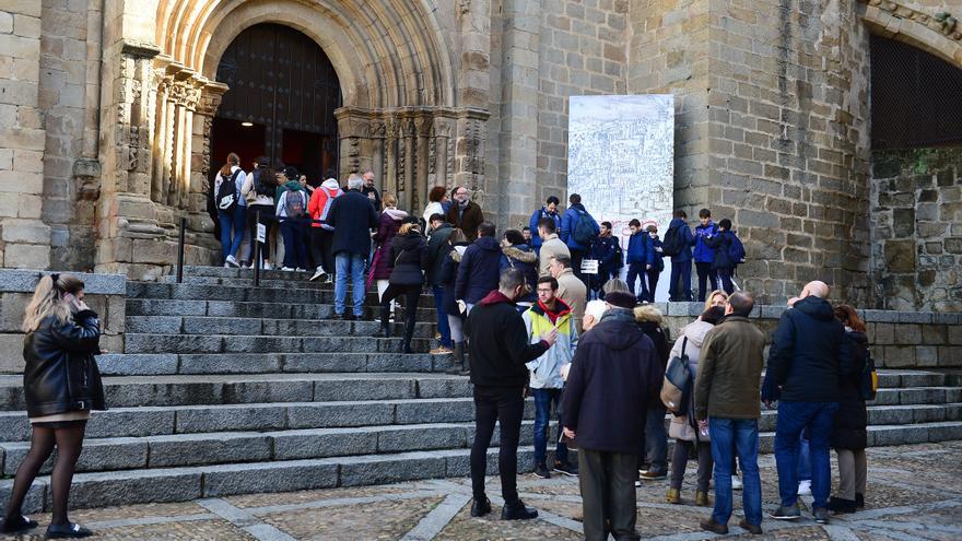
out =
[[562,397],[565,436],[577,440],[585,537],[641,539],[634,482],[649,404],[659,400],[661,362],[635,325],[634,295],[606,295],[609,308],[575,351]]

